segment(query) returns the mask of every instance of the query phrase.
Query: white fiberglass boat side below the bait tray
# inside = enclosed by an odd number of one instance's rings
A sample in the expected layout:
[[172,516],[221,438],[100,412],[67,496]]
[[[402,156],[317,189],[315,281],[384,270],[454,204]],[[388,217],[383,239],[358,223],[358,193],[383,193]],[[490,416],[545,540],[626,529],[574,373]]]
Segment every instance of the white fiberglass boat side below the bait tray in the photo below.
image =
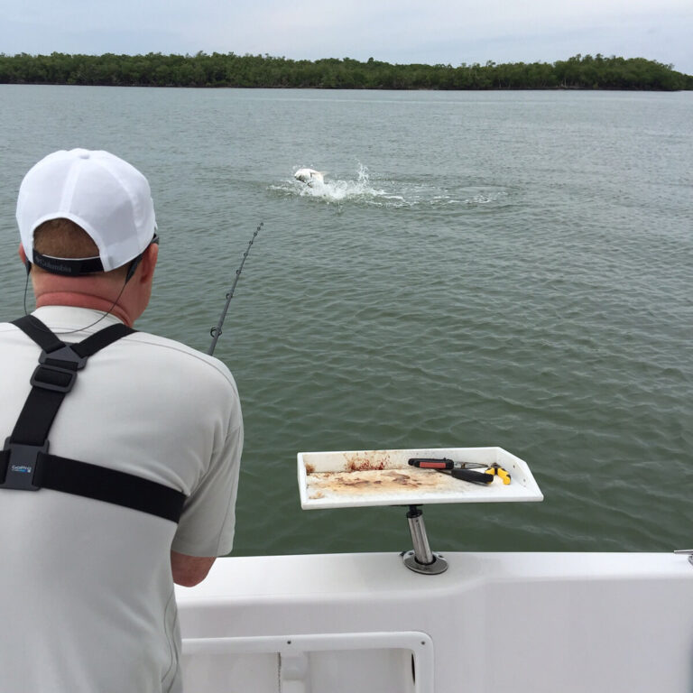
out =
[[177,591],[187,691],[693,690],[686,556],[444,559],[438,575],[396,553],[217,560]]

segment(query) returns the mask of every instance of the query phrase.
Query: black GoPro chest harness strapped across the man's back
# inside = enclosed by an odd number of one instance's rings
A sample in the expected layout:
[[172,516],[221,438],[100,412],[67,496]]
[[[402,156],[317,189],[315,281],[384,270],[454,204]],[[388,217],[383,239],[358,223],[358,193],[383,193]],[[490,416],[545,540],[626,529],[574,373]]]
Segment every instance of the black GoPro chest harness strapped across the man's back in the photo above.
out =
[[51,488],[178,522],[186,498],[180,491],[142,476],[58,457],[48,451],[48,433],[55,415],[88,357],[135,330],[118,323],[68,345],[32,315],[13,324],[42,347],[42,353],[32,374],[32,390],[12,435],[5,440],[5,449],[0,451],[0,488]]

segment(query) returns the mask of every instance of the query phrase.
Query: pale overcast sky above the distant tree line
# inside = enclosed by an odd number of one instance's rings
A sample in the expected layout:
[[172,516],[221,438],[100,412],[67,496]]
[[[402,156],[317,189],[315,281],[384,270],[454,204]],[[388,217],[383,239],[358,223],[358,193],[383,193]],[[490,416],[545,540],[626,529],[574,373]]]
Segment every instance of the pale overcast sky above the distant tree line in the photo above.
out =
[[444,63],[582,53],[693,74],[693,0],[0,0],[0,52]]

